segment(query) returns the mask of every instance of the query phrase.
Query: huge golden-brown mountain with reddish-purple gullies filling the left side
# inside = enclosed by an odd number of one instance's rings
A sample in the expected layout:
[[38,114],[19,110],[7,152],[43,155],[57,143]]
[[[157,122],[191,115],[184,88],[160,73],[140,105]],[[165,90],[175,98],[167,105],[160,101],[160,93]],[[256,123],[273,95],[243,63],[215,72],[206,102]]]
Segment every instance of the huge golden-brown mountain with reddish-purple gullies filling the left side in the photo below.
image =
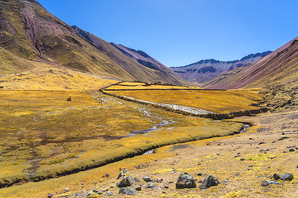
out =
[[143,66],[108,42],[96,39],[104,49],[35,0],[0,1],[1,73],[27,71],[43,63],[118,79],[191,85],[169,69]]

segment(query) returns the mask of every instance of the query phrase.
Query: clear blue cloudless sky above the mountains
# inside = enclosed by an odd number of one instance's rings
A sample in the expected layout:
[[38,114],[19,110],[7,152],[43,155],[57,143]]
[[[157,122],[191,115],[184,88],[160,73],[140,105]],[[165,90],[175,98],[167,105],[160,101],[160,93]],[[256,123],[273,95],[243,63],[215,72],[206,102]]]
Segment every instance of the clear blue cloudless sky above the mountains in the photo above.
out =
[[38,0],[68,25],[164,65],[232,61],[298,36],[297,0]]

